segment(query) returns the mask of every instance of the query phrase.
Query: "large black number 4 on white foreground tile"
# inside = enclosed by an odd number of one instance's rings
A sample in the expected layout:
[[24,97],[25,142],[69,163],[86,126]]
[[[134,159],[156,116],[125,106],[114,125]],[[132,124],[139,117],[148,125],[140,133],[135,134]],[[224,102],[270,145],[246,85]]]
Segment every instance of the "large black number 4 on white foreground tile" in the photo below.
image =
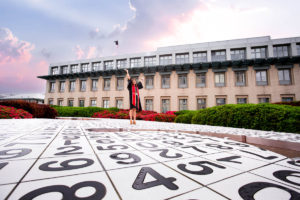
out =
[[[156,180],[144,183],[147,173],[149,173]],[[162,175],[160,175],[157,171],[153,170],[151,167],[143,167],[140,170],[138,176],[136,177],[134,183],[132,184],[132,187],[136,190],[143,190],[158,185],[164,185],[170,190],[177,190],[178,186],[173,183],[174,181],[176,181],[176,178],[174,177],[165,178]]]

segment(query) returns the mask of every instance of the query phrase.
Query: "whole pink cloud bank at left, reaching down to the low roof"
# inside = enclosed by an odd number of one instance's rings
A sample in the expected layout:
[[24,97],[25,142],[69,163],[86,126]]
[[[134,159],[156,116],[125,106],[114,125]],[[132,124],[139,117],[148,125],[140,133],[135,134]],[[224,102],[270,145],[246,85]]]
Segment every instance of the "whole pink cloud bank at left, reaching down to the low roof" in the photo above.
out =
[[33,48],[9,29],[0,28],[0,93],[44,91],[45,82],[37,76],[47,74],[49,64],[33,58]]

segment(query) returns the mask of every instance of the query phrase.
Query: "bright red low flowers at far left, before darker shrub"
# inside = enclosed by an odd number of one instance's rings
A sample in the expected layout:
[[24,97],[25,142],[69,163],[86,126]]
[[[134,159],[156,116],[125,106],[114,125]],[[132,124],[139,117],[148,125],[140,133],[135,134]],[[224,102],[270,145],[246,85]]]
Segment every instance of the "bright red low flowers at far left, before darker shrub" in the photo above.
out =
[[22,109],[0,105],[0,119],[25,119],[32,118],[32,114]]

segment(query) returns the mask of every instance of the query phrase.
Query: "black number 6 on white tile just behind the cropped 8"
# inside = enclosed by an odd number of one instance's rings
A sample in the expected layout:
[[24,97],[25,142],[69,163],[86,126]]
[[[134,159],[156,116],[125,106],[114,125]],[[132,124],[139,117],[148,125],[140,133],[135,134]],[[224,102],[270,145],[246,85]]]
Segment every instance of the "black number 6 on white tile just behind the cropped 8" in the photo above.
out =
[[[78,162],[78,161],[83,161],[85,163],[80,164],[80,165],[73,165],[72,162]],[[55,163],[58,163],[58,161],[50,161],[46,162],[42,165],[40,165],[39,169],[42,171],[64,171],[64,170],[72,170],[72,169],[79,169],[83,167],[90,166],[94,163],[93,160],[88,159],[88,158],[75,158],[75,159],[70,159],[70,160],[65,160],[60,163],[61,167],[50,167],[50,165],[53,165]]]

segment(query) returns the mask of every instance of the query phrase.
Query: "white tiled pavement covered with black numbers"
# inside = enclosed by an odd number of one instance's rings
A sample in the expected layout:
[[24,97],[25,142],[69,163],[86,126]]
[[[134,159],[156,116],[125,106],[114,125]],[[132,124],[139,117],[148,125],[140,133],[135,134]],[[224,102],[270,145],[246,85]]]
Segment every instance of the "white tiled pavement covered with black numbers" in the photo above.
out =
[[0,120],[0,199],[300,199],[300,164],[255,146],[179,131],[88,131],[125,123]]

